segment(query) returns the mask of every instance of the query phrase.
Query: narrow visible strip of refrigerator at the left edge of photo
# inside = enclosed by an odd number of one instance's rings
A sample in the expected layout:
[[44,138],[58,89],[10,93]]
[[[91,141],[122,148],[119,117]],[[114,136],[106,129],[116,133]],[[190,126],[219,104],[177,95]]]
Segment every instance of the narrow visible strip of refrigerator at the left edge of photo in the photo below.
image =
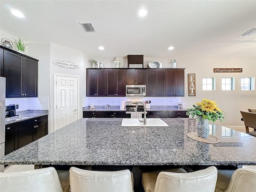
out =
[[[4,156],[5,142],[5,87],[4,77],[0,77],[0,157]],[[0,165],[0,172],[4,172],[4,165]]]

